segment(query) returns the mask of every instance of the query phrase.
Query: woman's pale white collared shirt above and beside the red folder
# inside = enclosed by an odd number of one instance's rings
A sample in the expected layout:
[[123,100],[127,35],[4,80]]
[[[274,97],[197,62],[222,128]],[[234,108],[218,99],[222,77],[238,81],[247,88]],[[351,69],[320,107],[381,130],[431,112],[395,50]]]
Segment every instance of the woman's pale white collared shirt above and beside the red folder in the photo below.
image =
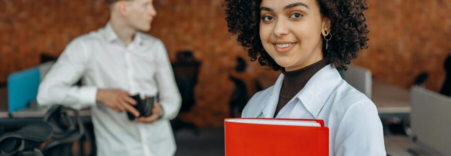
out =
[[[243,118],[272,118],[284,80],[256,93]],[[320,119],[329,128],[330,156],[386,156],[376,106],[344,81],[331,65],[319,70],[276,118]]]

